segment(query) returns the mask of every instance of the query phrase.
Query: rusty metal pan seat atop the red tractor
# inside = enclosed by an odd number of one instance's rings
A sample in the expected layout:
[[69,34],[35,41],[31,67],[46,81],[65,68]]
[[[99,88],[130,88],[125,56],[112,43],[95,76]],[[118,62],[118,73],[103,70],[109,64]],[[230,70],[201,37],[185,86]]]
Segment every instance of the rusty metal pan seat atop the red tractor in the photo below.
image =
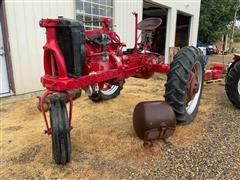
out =
[[161,18],[147,18],[138,23],[139,30],[155,30],[162,23]]

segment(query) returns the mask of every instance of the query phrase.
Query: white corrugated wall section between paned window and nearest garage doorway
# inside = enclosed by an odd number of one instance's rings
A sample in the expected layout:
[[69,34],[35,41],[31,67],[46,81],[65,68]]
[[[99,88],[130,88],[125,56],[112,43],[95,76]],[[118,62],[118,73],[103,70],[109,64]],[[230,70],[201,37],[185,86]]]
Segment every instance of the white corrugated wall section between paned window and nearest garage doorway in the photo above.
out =
[[134,46],[135,18],[132,12],[139,14],[138,21],[142,20],[142,0],[115,0],[113,9],[114,30],[118,33],[121,41],[126,43],[128,48]]

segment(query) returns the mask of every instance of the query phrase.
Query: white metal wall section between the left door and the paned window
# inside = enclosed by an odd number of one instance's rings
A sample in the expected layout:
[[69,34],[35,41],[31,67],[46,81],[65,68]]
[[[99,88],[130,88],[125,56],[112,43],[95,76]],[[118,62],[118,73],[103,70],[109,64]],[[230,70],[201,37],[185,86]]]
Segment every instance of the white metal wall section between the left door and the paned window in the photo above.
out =
[[6,1],[10,53],[16,94],[42,89],[43,45],[45,30],[39,27],[41,18],[62,15],[75,18],[71,1]]

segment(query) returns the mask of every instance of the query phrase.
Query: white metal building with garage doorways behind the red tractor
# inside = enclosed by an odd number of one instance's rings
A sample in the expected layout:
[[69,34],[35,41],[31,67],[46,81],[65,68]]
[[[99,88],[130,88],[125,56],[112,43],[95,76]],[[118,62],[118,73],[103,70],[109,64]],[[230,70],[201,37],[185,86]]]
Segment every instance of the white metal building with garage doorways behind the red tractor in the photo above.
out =
[[[42,89],[45,30],[41,18],[98,20],[109,17],[114,31],[128,47],[134,43],[134,17],[160,17],[156,32],[159,53],[168,63],[171,47],[196,45],[201,0],[73,0],[0,1],[0,97]],[[85,23],[86,29],[99,23]]]

